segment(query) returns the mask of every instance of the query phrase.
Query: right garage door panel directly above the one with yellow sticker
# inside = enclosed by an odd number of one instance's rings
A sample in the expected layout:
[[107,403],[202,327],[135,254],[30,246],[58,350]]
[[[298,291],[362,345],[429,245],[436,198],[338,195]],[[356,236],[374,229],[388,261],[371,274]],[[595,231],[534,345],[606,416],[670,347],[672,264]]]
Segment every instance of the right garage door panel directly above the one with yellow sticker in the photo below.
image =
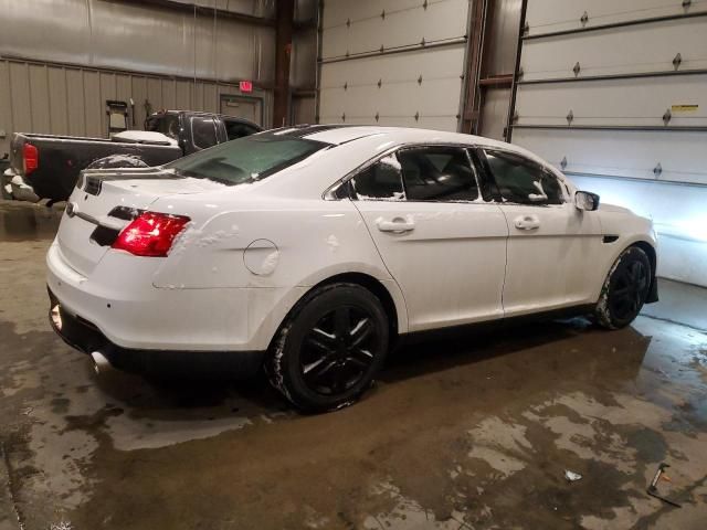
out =
[[[525,41],[523,81],[707,68],[707,17]],[[666,43],[671,43],[666,45]]]

